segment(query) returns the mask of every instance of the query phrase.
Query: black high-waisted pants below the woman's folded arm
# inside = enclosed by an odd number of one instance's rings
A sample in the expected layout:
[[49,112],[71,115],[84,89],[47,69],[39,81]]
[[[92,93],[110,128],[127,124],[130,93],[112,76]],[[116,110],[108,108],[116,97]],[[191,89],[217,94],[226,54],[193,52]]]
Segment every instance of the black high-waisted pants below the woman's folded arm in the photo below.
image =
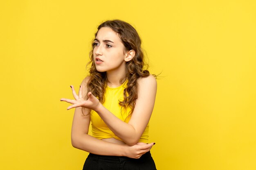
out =
[[90,153],[85,160],[83,170],[156,170],[156,167],[150,151],[139,159]]

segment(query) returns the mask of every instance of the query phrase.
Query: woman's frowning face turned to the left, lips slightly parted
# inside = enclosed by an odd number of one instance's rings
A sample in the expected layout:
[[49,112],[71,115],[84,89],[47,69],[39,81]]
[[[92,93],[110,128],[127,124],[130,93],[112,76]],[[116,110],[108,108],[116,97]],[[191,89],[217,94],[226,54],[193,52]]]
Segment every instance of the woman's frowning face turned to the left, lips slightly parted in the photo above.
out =
[[124,71],[125,56],[125,47],[119,35],[109,27],[100,28],[94,39],[93,49],[93,59],[97,71]]

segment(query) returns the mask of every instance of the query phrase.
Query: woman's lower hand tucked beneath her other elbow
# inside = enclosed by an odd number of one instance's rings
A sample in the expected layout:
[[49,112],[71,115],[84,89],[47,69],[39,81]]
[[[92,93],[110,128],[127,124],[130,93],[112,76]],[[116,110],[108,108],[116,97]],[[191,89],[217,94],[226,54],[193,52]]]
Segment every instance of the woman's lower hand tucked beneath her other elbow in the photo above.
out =
[[136,145],[127,146],[124,156],[139,159],[144,153],[147,153],[154,144],[155,143],[146,144],[138,142]]

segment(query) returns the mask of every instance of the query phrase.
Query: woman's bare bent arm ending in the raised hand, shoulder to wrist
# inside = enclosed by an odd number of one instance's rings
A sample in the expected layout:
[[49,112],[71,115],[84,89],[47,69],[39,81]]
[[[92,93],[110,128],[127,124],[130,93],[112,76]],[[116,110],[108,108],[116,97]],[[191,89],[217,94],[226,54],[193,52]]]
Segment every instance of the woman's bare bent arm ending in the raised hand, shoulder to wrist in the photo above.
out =
[[155,104],[156,91],[157,83],[154,76],[150,75],[138,80],[138,98],[128,123],[117,118],[100,103],[94,111],[99,114],[115,135],[129,146],[133,146],[139,141],[150,120]]

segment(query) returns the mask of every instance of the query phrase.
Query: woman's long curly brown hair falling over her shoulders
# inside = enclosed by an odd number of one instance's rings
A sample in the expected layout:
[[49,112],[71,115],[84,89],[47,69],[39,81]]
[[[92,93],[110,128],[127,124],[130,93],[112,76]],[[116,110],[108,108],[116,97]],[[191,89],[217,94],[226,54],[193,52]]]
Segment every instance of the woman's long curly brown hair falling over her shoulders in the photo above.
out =
[[[137,79],[140,77],[149,76],[149,71],[146,70],[148,65],[144,62],[144,53],[141,49],[141,39],[139,34],[130,24],[121,20],[108,20],[98,26],[98,31],[102,27],[109,27],[118,33],[125,50],[134,50],[135,56],[132,60],[126,62],[126,76],[120,80],[120,83],[128,80],[127,87],[124,89],[124,100],[119,101],[119,105],[126,108],[131,108],[131,113],[134,110],[137,99]],[[98,33],[97,31],[97,33]],[[95,37],[97,36],[95,33]],[[94,44],[92,43],[92,50],[90,51],[89,74],[90,80],[87,83],[88,92],[92,92],[101,103],[104,102],[104,92],[107,87],[106,72],[98,72],[93,59]]]

